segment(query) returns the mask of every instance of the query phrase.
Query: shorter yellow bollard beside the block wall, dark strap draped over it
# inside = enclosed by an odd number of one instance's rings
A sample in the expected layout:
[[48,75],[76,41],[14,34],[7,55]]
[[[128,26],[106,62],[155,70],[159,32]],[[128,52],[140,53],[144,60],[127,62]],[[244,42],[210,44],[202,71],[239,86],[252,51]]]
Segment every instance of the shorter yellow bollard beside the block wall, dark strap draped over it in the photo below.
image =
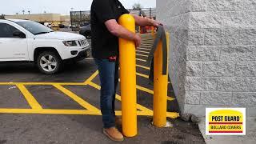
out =
[[[169,34],[166,34],[167,51],[169,49]],[[167,66],[168,69],[168,66]],[[154,126],[166,126],[167,109],[167,87],[168,70],[166,75],[162,75],[162,40],[158,43],[158,48],[154,53]]]

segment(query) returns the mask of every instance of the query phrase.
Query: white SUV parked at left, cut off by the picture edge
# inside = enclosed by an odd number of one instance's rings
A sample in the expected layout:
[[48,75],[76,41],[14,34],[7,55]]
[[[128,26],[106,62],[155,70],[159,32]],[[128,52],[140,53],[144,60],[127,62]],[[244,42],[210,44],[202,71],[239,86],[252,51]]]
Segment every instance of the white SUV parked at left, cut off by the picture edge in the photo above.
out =
[[64,60],[90,56],[90,46],[80,34],[54,32],[38,22],[0,19],[0,62],[34,62],[44,74],[55,74]]

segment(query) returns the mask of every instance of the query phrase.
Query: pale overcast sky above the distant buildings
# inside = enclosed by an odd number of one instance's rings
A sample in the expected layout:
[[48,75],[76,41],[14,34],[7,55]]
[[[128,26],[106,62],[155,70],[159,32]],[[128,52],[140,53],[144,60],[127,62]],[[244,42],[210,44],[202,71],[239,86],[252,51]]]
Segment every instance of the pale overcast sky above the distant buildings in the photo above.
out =
[[[104,1],[104,0],[102,0]],[[134,3],[140,3],[143,8],[156,6],[156,0],[119,0],[126,9],[131,8]],[[2,0],[0,3],[0,14],[30,14],[46,13],[69,14],[73,10],[90,10],[92,0]]]

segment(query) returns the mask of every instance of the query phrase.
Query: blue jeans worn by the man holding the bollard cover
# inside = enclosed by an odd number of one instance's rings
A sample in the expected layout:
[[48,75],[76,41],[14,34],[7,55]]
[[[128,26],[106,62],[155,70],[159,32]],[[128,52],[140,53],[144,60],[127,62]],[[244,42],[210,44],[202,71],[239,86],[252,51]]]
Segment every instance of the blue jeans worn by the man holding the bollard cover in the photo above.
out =
[[101,111],[104,128],[115,126],[114,102],[118,86],[118,60],[95,59],[101,81]]

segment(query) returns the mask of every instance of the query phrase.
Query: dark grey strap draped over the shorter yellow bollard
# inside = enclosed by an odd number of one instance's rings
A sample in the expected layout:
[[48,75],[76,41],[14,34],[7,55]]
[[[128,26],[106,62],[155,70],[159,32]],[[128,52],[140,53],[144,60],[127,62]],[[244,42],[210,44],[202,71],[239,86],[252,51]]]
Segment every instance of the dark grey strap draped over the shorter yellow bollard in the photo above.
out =
[[[162,40],[162,75],[167,74],[167,41],[166,41],[166,31],[163,26],[158,26],[158,33],[156,34],[156,38],[154,40],[154,44],[150,50],[149,58],[147,59],[147,65],[150,66],[150,74],[153,74],[151,70],[154,70],[154,66],[152,64],[154,58],[154,52],[157,50],[158,44]],[[152,77],[152,75],[150,76]]]

